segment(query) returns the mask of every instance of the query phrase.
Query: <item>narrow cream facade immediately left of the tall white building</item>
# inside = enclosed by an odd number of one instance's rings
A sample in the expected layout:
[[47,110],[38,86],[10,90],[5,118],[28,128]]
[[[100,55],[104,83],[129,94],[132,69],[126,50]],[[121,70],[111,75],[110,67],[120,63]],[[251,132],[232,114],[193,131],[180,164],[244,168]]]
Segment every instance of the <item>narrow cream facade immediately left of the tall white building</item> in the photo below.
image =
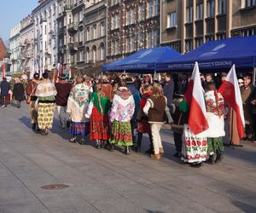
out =
[[20,71],[34,72],[34,21],[31,14],[20,22]]

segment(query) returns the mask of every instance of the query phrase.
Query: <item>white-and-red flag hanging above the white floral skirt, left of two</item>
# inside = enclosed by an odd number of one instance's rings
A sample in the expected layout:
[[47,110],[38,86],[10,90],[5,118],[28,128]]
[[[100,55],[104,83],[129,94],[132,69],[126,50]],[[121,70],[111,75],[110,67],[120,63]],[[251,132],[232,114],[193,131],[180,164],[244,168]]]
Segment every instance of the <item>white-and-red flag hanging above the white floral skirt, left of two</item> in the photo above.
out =
[[204,89],[201,86],[198,63],[195,62],[194,71],[189,86],[184,95],[189,104],[189,127],[195,135],[209,129],[207,123],[207,109],[204,99]]

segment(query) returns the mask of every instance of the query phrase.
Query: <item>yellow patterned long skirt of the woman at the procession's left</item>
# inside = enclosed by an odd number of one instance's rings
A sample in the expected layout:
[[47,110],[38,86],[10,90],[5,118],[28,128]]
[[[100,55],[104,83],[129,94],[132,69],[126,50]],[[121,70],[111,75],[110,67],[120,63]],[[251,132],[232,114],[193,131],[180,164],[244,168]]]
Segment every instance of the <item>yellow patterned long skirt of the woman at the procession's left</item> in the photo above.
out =
[[40,130],[52,128],[55,103],[38,103],[38,127]]

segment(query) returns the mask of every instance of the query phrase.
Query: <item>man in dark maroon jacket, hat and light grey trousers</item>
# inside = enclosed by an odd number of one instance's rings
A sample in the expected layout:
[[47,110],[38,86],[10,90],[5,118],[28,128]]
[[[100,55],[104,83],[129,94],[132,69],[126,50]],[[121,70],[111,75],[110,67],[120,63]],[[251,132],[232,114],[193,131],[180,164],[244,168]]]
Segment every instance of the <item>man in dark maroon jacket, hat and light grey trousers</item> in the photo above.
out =
[[55,96],[58,115],[60,118],[61,128],[69,127],[68,113],[67,113],[67,99],[72,89],[72,84],[67,82],[67,75],[61,74],[59,82],[55,83],[57,95]]

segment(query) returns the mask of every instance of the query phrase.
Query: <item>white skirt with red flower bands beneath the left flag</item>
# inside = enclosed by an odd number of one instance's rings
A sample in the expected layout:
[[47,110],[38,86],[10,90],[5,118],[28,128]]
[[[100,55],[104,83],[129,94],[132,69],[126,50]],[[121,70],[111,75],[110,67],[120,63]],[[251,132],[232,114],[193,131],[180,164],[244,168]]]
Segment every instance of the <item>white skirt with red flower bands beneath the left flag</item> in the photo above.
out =
[[201,163],[207,159],[207,137],[195,135],[187,124],[183,126],[182,159],[188,163]]

